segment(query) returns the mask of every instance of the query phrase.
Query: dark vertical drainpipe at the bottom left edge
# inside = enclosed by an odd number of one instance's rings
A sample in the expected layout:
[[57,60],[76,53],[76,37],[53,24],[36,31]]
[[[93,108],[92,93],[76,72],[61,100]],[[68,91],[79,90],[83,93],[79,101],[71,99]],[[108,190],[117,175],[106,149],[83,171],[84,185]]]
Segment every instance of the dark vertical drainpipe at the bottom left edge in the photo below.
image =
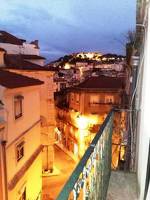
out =
[[6,165],[6,141],[1,141],[2,147],[2,161],[3,161],[3,173],[4,173],[4,191],[5,200],[8,200],[8,189],[7,189],[7,165]]

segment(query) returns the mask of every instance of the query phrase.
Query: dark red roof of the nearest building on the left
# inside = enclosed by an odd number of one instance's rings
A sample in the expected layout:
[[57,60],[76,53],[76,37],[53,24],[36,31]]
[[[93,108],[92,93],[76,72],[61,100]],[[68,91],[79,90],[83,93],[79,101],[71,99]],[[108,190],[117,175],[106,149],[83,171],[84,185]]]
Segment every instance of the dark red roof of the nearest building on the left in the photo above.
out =
[[13,89],[41,84],[43,84],[43,81],[40,81],[38,79],[29,78],[27,76],[5,70],[0,70],[0,85],[6,88]]

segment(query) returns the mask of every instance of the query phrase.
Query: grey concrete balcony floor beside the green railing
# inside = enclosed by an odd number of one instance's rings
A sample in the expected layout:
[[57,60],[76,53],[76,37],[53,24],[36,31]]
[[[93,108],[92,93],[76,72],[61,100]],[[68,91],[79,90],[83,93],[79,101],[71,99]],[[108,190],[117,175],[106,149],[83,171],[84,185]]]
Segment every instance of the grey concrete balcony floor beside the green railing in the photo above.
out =
[[137,200],[136,174],[112,171],[106,200]]

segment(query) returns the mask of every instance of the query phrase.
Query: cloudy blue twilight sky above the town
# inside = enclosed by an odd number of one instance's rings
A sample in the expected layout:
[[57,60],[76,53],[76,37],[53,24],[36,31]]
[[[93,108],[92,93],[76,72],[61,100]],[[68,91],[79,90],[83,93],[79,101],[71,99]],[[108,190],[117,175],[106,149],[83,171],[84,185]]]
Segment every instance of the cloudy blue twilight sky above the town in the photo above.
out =
[[38,39],[48,60],[80,51],[124,54],[136,0],[0,0],[0,29]]

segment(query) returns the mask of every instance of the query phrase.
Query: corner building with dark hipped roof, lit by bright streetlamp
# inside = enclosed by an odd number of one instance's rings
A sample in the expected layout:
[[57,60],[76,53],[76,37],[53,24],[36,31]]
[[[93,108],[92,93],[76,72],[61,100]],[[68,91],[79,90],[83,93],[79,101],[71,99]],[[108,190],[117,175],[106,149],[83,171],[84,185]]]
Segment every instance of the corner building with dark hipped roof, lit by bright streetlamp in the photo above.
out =
[[[124,104],[123,81],[110,77],[91,77],[58,98],[57,130],[59,142],[77,157],[82,157],[109,111]],[[64,94],[63,94],[64,96]],[[125,137],[126,114],[115,114],[113,133],[113,168],[117,168],[119,151]]]

